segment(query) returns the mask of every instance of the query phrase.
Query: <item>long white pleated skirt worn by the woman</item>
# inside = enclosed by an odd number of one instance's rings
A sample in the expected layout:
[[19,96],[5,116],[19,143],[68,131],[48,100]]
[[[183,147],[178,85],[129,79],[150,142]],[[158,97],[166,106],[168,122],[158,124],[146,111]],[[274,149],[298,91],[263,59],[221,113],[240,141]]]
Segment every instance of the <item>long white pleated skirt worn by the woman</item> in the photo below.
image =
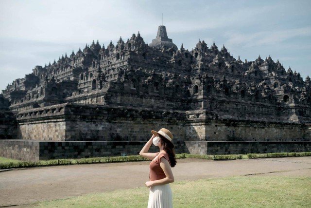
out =
[[150,188],[148,208],[173,208],[173,195],[169,184]]

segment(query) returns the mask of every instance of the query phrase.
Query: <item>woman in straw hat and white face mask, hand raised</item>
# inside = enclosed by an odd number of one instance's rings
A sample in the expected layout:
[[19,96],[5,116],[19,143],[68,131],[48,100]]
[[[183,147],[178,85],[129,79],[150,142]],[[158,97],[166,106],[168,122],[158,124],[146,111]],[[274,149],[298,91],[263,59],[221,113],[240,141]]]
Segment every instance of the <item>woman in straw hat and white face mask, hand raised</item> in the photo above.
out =
[[[145,183],[146,187],[150,188],[148,208],[173,208],[172,190],[169,185],[174,182],[171,167],[176,165],[173,134],[165,128],[151,132],[152,137],[139,152],[141,156],[152,160],[149,165],[150,181]],[[152,144],[159,147],[160,151],[148,152]]]

